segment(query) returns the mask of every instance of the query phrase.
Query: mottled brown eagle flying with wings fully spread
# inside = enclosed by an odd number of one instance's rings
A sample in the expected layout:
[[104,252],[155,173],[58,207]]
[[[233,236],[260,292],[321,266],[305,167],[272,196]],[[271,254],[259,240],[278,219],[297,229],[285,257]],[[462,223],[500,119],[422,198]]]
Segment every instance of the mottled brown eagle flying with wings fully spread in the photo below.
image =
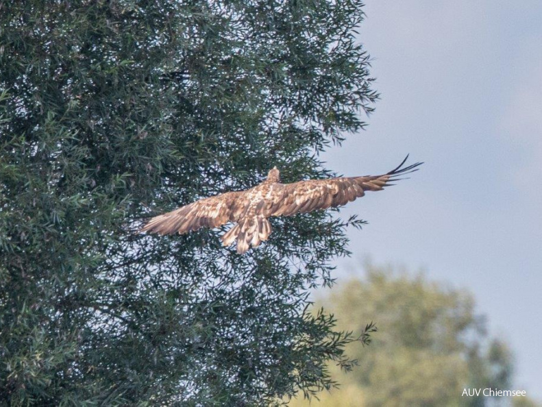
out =
[[245,253],[249,246],[258,246],[271,234],[269,217],[289,217],[317,209],[347,204],[365,195],[366,190],[382,190],[389,182],[402,180],[401,175],[417,171],[421,162],[399,167],[383,175],[338,177],[326,180],[306,180],[281,184],[277,167],[271,169],[264,182],[238,192],[214,195],[182,206],[150,219],[140,232],[184,234],[200,227],[219,227],[234,223],[221,236],[222,244],[237,242],[237,252]]

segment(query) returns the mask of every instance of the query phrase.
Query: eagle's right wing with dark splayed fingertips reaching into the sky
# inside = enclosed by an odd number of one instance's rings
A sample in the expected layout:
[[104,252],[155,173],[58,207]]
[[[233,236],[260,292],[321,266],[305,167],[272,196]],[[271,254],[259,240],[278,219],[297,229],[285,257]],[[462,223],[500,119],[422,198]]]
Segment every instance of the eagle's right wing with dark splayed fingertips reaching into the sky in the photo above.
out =
[[273,194],[267,205],[267,217],[291,216],[317,209],[327,209],[341,206],[358,197],[365,195],[366,190],[382,190],[391,186],[389,182],[402,180],[401,175],[417,171],[421,162],[399,167],[383,175],[367,175],[364,177],[341,177],[329,180],[308,180],[284,184],[280,193]]

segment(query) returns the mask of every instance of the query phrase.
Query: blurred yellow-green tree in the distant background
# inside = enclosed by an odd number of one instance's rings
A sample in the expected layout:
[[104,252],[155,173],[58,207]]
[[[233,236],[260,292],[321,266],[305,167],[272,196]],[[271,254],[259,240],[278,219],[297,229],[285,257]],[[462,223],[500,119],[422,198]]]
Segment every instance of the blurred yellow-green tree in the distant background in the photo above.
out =
[[331,367],[341,388],[312,406],[484,406],[489,397],[461,397],[463,389],[511,389],[510,350],[487,336],[467,291],[369,264],[363,280],[336,286],[322,303],[339,329],[360,332],[373,320],[378,333],[367,352],[347,347],[359,366],[346,375]]

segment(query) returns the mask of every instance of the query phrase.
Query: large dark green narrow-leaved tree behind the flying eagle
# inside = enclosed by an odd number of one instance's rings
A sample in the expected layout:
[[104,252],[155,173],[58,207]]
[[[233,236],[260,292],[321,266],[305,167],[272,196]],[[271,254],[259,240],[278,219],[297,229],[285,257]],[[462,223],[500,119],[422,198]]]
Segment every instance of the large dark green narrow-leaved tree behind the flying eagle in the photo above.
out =
[[304,311],[343,221],[275,219],[245,256],[217,232],[135,234],[364,127],[359,0],[0,2],[0,399],[252,405],[314,393],[352,336]]

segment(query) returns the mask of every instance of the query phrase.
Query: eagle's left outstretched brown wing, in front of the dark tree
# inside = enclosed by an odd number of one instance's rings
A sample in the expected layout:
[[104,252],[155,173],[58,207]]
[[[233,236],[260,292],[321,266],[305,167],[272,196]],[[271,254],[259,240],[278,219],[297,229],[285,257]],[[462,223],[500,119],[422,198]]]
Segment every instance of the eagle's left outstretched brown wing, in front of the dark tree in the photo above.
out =
[[230,192],[199,199],[192,204],[153,217],[139,232],[183,234],[198,230],[200,227],[213,228],[236,221],[249,204],[247,199],[243,199],[244,193],[245,191]]

